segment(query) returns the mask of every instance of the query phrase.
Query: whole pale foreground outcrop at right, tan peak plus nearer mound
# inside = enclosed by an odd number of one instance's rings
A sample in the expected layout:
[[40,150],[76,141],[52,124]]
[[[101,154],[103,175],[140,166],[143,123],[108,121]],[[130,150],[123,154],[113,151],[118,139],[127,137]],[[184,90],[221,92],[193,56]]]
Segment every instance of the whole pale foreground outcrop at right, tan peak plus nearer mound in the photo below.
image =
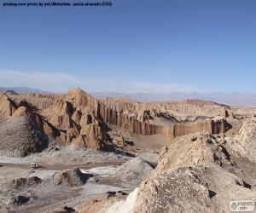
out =
[[163,148],[140,186],[134,212],[229,212],[230,200],[255,199],[224,146],[208,133],[186,135]]

